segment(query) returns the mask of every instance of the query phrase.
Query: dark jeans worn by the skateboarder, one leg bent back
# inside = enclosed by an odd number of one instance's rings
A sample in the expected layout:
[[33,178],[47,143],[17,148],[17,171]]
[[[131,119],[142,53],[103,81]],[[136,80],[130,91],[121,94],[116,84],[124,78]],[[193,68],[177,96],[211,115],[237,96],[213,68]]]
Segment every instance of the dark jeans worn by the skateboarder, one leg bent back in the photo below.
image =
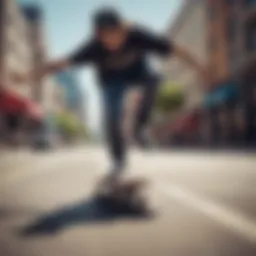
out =
[[[158,82],[158,78],[155,76],[137,82],[138,87],[143,90],[143,97],[136,113],[135,132],[143,129],[150,120]],[[111,81],[103,86],[107,140],[111,156],[115,162],[125,161],[126,143],[122,130],[123,103],[127,91],[131,88],[134,86],[122,79]]]

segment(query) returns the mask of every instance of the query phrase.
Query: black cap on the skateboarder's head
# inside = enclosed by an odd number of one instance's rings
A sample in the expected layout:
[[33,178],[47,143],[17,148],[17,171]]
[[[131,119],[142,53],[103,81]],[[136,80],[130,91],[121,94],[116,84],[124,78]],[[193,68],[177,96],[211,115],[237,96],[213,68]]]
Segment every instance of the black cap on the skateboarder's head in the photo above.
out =
[[97,30],[119,27],[121,23],[120,14],[112,8],[101,9],[94,15],[94,27]]

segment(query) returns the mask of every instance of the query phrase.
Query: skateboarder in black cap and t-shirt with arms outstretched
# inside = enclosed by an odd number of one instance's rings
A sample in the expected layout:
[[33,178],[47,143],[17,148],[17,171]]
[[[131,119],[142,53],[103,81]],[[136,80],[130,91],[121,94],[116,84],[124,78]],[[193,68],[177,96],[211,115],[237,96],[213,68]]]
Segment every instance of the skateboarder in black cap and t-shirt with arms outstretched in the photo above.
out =
[[127,24],[114,9],[101,9],[93,17],[93,36],[71,55],[46,64],[30,74],[17,75],[20,80],[43,77],[71,66],[92,64],[98,72],[103,92],[106,134],[113,167],[110,176],[119,177],[125,168],[125,140],[122,131],[122,105],[132,85],[143,89],[140,109],[136,116],[134,138],[147,146],[144,130],[153,107],[159,78],[150,67],[147,57],[178,57],[193,68],[200,79],[205,77],[204,67],[186,50],[149,30]]

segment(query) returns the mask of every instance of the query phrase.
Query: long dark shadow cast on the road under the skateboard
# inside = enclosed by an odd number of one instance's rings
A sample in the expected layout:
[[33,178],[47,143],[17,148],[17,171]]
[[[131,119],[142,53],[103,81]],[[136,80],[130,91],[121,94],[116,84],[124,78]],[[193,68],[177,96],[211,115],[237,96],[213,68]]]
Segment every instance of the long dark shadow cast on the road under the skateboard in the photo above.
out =
[[117,205],[105,200],[89,199],[40,217],[19,230],[21,236],[51,235],[72,225],[100,224],[117,219],[151,219],[149,212],[141,212],[129,205]]

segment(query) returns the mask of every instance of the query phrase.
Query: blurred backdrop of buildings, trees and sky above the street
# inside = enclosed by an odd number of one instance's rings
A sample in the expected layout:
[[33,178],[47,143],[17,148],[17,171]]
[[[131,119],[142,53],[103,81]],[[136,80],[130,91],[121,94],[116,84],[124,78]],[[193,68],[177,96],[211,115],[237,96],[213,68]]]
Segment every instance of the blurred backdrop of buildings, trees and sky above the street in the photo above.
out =
[[[23,85],[11,79],[13,72],[26,72],[49,58],[69,54],[90,35],[91,13],[102,4],[1,2],[1,147],[35,141],[50,142],[52,147],[103,137],[93,70],[68,70]],[[137,5],[145,5],[143,15]],[[177,60],[159,65],[164,82],[151,127],[155,143],[255,144],[255,1],[141,1],[137,5],[115,3],[129,19],[183,45],[211,72],[209,84],[202,87],[193,71]],[[136,99],[136,95],[129,98],[129,108]]]

